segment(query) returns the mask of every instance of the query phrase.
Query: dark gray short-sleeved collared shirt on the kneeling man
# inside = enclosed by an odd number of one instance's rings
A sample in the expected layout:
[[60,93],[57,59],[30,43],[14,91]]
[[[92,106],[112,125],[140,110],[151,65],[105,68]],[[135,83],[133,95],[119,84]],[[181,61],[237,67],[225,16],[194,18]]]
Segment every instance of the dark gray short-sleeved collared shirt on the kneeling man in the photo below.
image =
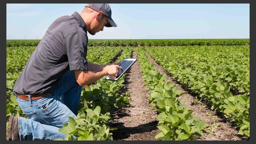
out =
[[52,93],[68,70],[88,70],[87,30],[79,13],[56,19],[28,59],[13,93]]

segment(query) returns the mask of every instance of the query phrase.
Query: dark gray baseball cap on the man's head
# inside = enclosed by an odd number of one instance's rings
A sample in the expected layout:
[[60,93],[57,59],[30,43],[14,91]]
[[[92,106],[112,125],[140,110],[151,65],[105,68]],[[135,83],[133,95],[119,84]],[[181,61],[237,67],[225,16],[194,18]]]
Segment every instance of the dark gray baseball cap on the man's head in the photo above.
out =
[[101,11],[105,16],[107,16],[108,24],[105,27],[117,27],[114,20],[111,18],[111,8],[109,4],[86,4],[85,7],[89,7],[97,12]]

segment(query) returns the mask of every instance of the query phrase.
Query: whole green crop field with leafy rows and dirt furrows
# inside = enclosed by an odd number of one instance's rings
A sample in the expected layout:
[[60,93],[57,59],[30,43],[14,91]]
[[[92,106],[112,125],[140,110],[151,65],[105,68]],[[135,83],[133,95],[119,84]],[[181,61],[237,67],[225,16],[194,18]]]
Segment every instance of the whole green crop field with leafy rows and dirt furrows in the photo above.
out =
[[[6,40],[6,119],[26,117],[12,88],[39,42]],[[89,40],[89,62],[123,58],[119,81],[84,86],[65,140],[250,140],[249,39]]]

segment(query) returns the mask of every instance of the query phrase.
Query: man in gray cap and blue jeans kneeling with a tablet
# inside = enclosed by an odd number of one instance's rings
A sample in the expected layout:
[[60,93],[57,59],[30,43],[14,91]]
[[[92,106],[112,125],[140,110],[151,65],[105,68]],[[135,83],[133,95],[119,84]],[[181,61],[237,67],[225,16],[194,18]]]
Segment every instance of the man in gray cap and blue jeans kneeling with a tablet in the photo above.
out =
[[104,26],[117,26],[109,4],[86,4],[80,14],[62,16],[50,25],[13,87],[29,119],[10,116],[7,140],[64,139],[58,129],[69,122],[69,116],[77,118],[82,86],[117,76],[122,68],[86,60],[87,31],[95,35]]

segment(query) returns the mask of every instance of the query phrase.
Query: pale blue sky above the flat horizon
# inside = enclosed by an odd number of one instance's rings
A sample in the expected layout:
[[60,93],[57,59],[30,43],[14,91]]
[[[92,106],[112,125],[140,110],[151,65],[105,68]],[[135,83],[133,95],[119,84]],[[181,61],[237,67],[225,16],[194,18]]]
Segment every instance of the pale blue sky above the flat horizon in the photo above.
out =
[[[41,39],[85,4],[6,4],[6,39]],[[250,38],[250,4],[110,4],[117,27],[89,39]]]

